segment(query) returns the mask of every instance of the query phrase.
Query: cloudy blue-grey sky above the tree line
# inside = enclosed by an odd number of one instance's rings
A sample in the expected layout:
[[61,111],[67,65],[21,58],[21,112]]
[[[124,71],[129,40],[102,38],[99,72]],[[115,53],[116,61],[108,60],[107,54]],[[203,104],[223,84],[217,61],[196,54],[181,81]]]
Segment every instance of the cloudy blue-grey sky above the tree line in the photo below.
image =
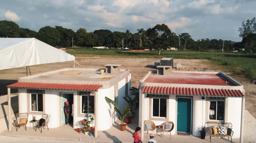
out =
[[256,17],[256,0],[0,0],[0,20],[38,30],[55,25],[87,32],[99,29],[136,33],[166,24],[194,40],[241,41],[243,20]]

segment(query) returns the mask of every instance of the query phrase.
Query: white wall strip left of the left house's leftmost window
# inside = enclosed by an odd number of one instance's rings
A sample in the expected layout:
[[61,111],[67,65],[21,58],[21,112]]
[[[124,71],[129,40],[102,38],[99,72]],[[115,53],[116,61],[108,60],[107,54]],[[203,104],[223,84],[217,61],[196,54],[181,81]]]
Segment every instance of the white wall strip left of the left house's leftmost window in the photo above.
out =
[[[18,89],[19,95],[19,113],[27,113],[28,112],[28,106],[27,105],[27,89],[19,88]],[[30,118],[32,119],[32,118]]]

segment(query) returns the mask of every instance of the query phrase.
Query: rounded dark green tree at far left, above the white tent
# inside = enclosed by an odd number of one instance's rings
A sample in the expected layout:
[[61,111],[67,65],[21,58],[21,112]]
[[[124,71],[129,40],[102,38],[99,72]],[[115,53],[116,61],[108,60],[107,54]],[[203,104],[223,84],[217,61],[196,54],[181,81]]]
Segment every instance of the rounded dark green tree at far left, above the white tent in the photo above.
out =
[[5,38],[18,38],[20,27],[18,24],[12,21],[2,20],[0,21],[0,37]]

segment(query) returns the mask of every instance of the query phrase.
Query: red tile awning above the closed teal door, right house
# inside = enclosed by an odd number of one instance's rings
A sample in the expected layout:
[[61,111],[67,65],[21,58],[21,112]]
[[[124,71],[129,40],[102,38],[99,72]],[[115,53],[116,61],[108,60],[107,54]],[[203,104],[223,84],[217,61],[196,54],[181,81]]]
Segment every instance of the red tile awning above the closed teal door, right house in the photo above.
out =
[[142,88],[141,92],[149,93],[149,94],[177,94],[177,95],[244,97],[244,94],[240,90],[233,90],[233,89],[144,86]]

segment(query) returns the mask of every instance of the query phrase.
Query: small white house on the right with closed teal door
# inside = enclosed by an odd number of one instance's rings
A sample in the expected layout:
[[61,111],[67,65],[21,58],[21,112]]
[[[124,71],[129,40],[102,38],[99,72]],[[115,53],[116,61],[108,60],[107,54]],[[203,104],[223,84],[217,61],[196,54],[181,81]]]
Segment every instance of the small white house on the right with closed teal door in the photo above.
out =
[[[240,137],[244,88],[223,72],[172,72],[170,66],[161,66],[139,81],[139,91],[141,127],[145,120],[156,126],[172,121],[172,135],[186,132],[200,136],[199,128],[208,121],[229,122],[232,138]],[[146,129],[141,131],[143,134]]]

